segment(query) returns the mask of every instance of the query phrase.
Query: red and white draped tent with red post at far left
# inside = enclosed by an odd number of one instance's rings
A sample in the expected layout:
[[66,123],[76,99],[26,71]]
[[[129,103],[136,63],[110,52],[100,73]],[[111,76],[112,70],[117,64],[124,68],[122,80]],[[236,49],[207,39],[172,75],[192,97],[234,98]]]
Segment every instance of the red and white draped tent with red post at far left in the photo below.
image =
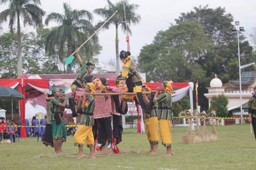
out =
[[[0,86],[16,89],[25,96],[19,100],[21,125],[25,125],[25,100],[38,97],[49,89],[48,80],[43,79],[0,79]],[[20,128],[20,137],[26,137],[25,127]]]

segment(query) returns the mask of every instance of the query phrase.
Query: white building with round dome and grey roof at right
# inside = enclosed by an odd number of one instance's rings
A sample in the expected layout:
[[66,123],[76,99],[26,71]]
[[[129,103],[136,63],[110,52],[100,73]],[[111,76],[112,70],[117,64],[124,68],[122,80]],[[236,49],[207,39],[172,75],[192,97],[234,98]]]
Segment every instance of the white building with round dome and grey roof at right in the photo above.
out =
[[[256,85],[256,71],[247,71],[241,73],[242,87],[242,104],[243,115],[248,115],[247,102],[252,97],[253,87]],[[239,80],[232,80],[222,84],[215,74],[215,78],[211,80],[210,87],[207,87],[208,93],[204,96],[209,100],[209,107],[213,96],[225,95],[228,98],[228,111],[232,112],[233,116],[240,116],[240,87]]]

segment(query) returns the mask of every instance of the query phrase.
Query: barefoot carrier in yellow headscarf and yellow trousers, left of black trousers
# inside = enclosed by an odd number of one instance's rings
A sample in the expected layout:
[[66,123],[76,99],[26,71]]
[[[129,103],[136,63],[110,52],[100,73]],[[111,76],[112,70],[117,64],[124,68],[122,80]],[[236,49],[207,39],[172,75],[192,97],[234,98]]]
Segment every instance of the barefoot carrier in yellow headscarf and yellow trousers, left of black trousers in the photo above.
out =
[[74,135],[74,138],[75,138],[74,145],[78,146],[78,150],[79,150],[77,159],[80,159],[85,156],[83,152],[83,146],[84,146],[85,140],[86,140],[87,147],[90,148],[89,158],[91,159],[96,158],[95,152],[94,152],[94,136],[92,131],[92,127],[94,124],[93,111],[95,108],[95,100],[93,95],[87,95],[87,93],[95,93],[95,89],[96,88],[93,83],[87,83],[85,85],[85,92],[84,92],[82,101],[80,100],[77,105],[78,109],[82,108],[82,116],[80,118],[80,124],[78,125],[78,128]]

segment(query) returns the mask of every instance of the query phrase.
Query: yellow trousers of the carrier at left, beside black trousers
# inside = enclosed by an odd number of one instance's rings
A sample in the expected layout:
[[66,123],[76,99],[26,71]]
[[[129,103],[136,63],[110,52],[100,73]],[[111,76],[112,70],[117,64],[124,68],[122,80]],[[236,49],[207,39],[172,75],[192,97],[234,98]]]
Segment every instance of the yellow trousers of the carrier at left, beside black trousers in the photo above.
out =
[[83,147],[84,141],[86,140],[86,144],[88,148],[94,147],[94,137],[93,137],[93,126],[85,126],[78,125],[78,128],[75,132],[75,146]]

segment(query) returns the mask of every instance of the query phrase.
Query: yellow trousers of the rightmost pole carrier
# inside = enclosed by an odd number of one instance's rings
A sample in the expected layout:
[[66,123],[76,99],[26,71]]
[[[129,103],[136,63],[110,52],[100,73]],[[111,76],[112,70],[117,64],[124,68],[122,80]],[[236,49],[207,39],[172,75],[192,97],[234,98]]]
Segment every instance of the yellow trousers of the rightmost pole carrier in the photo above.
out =
[[158,121],[162,144],[166,147],[170,147],[172,143],[171,121],[167,119],[159,119]]

